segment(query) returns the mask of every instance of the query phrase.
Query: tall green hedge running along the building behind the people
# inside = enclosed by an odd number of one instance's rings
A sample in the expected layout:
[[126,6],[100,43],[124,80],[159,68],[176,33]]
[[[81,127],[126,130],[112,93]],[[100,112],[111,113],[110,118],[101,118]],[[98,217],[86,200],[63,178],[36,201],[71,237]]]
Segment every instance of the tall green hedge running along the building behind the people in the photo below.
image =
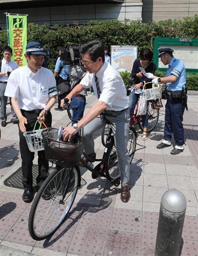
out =
[[[48,26],[49,24],[29,23],[27,26],[27,41],[39,41],[50,50],[48,67],[51,70],[55,68],[58,48],[70,44],[81,45],[86,41],[96,39],[102,41],[109,50],[111,45],[138,45],[140,51],[144,47],[152,49],[153,38],[155,37],[198,38],[198,15],[185,17],[184,20],[162,20],[150,23],[93,20],[84,25],[78,25],[77,23],[73,25],[57,24],[55,27],[58,36],[55,30],[49,29]],[[6,28],[2,28],[0,31],[0,51],[6,45]]]

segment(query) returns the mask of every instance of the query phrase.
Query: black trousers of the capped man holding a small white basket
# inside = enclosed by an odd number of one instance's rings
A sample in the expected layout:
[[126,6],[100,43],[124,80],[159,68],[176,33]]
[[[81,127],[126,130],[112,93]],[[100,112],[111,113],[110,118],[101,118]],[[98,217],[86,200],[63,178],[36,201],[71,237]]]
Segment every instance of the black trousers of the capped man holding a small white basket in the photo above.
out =
[[[33,131],[34,124],[37,120],[37,116],[39,114],[30,113],[29,111],[23,111],[21,109],[21,113],[26,117],[28,123],[25,124],[26,131]],[[47,116],[45,118],[45,124],[47,127],[52,126],[52,114],[48,111]],[[36,130],[39,128],[39,124],[37,123]],[[34,152],[31,152],[26,143],[26,138],[23,136],[22,131],[19,129],[19,145],[20,145],[20,154],[22,159],[22,183],[24,189],[32,189],[33,177],[32,177],[32,164],[34,160]],[[37,151],[38,154],[38,176],[37,176],[37,187],[39,188],[43,181],[47,177],[49,162],[46,160],[45,151]]]

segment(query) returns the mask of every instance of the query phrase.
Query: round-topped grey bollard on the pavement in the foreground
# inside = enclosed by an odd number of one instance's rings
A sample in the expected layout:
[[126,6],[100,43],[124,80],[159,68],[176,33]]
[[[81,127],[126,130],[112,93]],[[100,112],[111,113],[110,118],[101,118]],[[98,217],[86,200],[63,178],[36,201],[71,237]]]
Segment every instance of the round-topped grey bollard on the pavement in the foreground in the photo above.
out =
[[178,256],[184,226],[187,200],[176,189],[161,198],[155,256]]

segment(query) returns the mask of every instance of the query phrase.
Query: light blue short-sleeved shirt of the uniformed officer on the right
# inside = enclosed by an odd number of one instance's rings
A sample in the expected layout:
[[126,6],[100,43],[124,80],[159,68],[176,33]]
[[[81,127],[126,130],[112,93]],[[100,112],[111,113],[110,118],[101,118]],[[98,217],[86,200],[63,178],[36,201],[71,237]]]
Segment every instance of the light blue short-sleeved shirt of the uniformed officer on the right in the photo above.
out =
[[170,75],[176,76],[177,80],[175,82],[167,83],[167,90],[172,92],[182,90],[182,87],[184,87],[187,80],[184,62],[173,57],[166,73],[166,76]]

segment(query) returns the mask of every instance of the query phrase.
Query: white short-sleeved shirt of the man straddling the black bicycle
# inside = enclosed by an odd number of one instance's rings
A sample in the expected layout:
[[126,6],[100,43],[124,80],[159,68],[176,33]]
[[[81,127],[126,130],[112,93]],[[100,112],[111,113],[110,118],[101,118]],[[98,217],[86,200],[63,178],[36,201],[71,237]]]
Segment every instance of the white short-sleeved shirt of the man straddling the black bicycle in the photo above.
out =
[[84,88],[93,87],[98,98],[95,75],[98,77],[100,87],[100,98],[98,101],[105,102],[106,110],[121,111],[129,107],[129,100],[126,96],[126,88],[120,74],[107,62],[104,62],[101,69],[95,74],[89,72],[80,81]]

